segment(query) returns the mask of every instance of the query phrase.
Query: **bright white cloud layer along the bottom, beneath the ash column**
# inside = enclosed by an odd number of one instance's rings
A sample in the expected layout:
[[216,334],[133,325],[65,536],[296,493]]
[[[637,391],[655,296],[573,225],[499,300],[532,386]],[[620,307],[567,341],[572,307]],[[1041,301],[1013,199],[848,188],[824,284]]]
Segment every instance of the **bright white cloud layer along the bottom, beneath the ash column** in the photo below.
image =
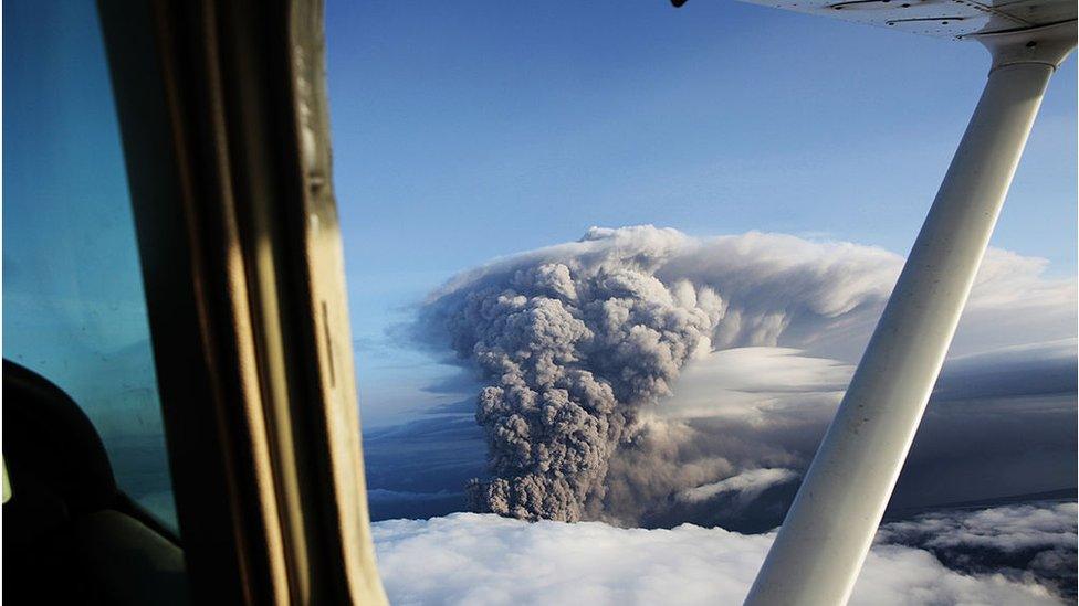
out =
[[[1055,522],[1036,525],[1062,523],[1073,543],[1073,506],[1070,514],[1047,510],[1044,517]],[[1006,528],[999,535],[1012,530],[1028,529]],[[693,525],[619,529],[473,513],[378,522],[374,533],[378,567],[397,605],[741,604],[774,539]],[[1060,603],[1030,580],[964,575],[928,551],[894,544],[873,547],[851,600],[863,606]]]

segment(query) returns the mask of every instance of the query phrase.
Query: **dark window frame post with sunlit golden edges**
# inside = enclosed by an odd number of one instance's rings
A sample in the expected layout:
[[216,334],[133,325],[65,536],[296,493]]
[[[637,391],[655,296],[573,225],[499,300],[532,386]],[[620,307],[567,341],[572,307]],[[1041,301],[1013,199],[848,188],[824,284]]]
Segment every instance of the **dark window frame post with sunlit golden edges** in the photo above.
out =
[[319,1],[99,0],[197,599],[385,604]]

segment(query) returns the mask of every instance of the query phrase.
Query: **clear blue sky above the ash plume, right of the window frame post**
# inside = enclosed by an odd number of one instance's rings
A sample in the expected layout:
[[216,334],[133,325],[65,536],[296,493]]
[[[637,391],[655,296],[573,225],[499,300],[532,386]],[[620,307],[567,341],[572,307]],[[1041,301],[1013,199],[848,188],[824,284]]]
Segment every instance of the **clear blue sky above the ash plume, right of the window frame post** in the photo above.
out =
[[[365,422],[446,401],[385,333],[492,257],[591,225],[913,242],[985,82],[977,44],[738,2],[327,1]],[[1076,270],[1076,61],[993,245]],[[440,400],[441,397],[441,400]]]

